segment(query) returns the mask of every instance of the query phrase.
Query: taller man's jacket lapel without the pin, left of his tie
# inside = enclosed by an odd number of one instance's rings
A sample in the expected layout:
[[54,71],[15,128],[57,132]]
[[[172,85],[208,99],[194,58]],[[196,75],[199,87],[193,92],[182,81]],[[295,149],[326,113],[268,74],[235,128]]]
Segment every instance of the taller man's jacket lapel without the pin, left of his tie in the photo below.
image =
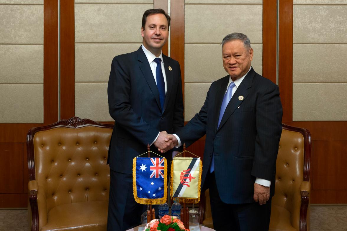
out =
[[158,87],[156,86],[150,64],[148,63],[148,59],[147,59],[145,53],[143,52],[141,46],[137,50],[137,59],[139,62],[141,62],[140,63],[140,69],[142,71],[142,74],[143,74],[144,78],[146,79],[148,86],[150,87],[150,89],[151,89],[151,91],[155,97],[156,103],[158,104],[158,106],[161,110]]

